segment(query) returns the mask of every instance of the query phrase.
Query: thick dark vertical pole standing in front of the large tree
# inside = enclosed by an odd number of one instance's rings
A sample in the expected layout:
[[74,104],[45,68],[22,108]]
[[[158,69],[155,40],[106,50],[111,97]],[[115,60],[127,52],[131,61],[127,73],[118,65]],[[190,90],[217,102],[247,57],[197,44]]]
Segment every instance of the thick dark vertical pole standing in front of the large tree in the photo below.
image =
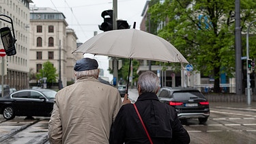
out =
[[236,15],[236,94],[242,94],[242,60],[241,60],[241,28],[240,28],[240,0],[235,1]]

